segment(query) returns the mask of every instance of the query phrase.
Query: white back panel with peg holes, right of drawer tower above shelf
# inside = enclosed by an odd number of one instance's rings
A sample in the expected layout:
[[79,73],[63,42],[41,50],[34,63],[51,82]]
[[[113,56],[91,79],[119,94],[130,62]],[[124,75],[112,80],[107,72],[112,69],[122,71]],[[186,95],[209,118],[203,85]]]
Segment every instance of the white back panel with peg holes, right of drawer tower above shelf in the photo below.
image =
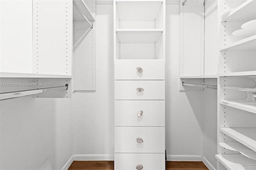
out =
[[204,3],[180,3],[180,76],[204,75]]

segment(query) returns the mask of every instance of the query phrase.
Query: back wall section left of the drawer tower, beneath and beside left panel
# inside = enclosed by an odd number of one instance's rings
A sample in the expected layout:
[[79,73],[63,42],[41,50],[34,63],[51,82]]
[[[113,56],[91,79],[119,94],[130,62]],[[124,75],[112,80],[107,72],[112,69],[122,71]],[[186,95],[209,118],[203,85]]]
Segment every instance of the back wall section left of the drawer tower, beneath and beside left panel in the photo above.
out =
[[96,5],[96,91],[73,94],[74,154],[113,160],[113,5]]

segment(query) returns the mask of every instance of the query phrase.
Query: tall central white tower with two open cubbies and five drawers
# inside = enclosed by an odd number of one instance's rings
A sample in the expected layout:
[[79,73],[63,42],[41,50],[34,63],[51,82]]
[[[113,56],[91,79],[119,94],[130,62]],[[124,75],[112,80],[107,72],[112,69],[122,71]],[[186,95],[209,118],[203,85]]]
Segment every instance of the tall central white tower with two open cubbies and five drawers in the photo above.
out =
[[164,170],[165,0],[114,0],[114,79],[114,168]]

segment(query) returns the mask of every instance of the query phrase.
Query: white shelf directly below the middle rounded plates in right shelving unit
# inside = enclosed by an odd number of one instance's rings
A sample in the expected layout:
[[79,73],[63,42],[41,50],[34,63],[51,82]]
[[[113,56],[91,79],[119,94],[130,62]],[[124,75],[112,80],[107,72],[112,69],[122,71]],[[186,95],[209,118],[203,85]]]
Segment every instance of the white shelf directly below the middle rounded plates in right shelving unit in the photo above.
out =
[[243,111],[248,111],[251,113],[256,113],[256,102],[253,101],[244,101],[244,100],[220,100],[220,104],[226,105],[229,107],[234,107]]

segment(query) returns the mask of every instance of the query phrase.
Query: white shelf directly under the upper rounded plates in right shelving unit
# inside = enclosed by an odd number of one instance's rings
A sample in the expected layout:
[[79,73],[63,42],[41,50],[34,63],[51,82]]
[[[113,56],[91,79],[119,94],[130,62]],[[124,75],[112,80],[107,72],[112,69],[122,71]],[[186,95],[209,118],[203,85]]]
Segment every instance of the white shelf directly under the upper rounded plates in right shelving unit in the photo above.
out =
[[223,47],[220,47],[220,51],[255,51],[256,50],[256,35],[250,36],[248,38],[245,38],[243,40],[224,45]]

